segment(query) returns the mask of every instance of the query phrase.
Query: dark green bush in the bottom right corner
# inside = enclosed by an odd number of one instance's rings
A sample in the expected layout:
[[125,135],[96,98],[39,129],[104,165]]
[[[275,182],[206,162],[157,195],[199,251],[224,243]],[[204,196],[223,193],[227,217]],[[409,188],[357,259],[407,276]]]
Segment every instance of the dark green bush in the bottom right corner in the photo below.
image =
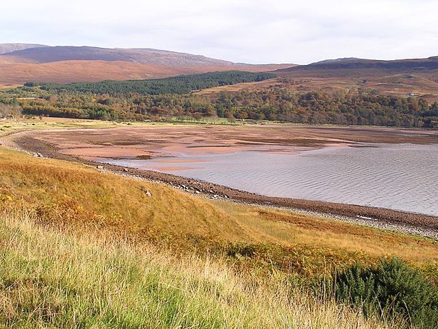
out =
[[397,258],[337,271],[331,279],[331,293],[367,316],[403,317],[411,327],[438,328],[438,287],[419,269]]

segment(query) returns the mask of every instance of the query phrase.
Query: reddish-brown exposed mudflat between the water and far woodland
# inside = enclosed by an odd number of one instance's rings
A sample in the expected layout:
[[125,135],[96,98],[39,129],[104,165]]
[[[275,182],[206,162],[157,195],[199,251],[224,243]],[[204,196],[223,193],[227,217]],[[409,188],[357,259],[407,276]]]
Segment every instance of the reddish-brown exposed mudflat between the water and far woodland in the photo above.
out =
[[158,157],[237,150],[297,153],[324,146],[438,143],[437,131],[378,127],[158,126],[34,131],[29,136],[85,159]]

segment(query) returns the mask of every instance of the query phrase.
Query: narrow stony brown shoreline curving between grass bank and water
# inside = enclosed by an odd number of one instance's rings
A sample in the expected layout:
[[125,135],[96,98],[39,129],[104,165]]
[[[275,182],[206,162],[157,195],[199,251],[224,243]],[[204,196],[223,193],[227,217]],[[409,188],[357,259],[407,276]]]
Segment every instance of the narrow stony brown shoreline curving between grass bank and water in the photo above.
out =
[[206,181],[188,179],[173,174],[127,168],[109,163],[99,163],[82,159],[81,157],[60,153],[50,144],[44,143],[34,137],[29,137],[27,135],[29,132],[30,131],[14,132],[1,137],[0,140],[2,140],[6,147],[24,150],[32,155],[47,157],[50,159],[73,161],[123,176],[144,179],[155,183],[164,183],[171,187],[181,189],[184,192],[191,193],[194,196],[285,209],[296,211],[298,213],[333,218],[335,220],[342,220],[353,224],[372,226],[411,235],[422,235],[423,237],[430,237],[438,240],[438,217],[436,216],[334,202],[263,196]]

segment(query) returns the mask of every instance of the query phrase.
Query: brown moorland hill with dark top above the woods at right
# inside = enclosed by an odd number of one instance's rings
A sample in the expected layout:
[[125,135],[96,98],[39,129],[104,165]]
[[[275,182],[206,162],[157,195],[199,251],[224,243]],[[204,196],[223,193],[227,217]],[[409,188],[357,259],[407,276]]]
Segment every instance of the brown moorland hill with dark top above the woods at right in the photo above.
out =
[[374,90],[394,96],[414,94],[438,101],[438,56],[408,60],[326,60],[281,68],[287,88],[300,92],[359,92]]

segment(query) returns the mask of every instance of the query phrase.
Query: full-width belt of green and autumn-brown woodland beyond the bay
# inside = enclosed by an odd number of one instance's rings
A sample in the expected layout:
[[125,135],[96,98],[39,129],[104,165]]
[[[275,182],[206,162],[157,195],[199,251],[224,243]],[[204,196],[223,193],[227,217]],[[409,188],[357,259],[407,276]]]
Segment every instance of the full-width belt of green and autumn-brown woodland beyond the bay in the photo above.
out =
[[[102,120],[228,118],[231,121],[250,119],[302,124],[369,124],[438,129],[438,103],[429,104],[417,97],[392,96],[373,91],[296,92],[278,86],[260,90],[220,92],[216,96],[203,96],[191,92],[192,88],[207,88],[211,84],[237,83],[242,79],[255,81],[268,77],[270,75],[258,73],[241,75],[241,73],[229,72],[149,81],[148,83],[167,81],[166,91],[172,92],[159,94],[132,90],[126,92],[119,88],[120,85],[129,86],[131,83],[144,83],[144,81],[103,81],[66,85],[28,83],[25,87],[1,92],[0,103],[20,105],[23,114],[66,118]],[[202,81],[204,78],[205,81]],[[178,89],[179,87],[175,89],[175,81],[181,83],[180,87],[185,90]],[[187,81],[189,86],[183,86]],[[114,83],[119,89],[99,92],[100,87],[97,86],[105,83]],[[96,86],[93,88],[97,89],[90,92],[90,89],[87,89],[88,85]],[[187,90],[190,91],[186,92]]]

